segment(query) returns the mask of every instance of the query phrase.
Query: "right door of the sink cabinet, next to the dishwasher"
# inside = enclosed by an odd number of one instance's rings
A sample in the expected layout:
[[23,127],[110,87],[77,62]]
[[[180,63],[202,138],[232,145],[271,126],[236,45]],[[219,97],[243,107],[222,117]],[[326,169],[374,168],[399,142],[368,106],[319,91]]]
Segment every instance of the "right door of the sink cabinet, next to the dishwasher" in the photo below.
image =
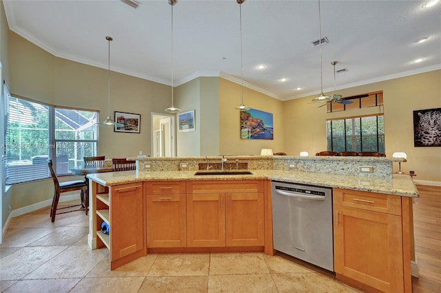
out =
[[263,246],[263,193],[227,193],[225,199],[226,245]]

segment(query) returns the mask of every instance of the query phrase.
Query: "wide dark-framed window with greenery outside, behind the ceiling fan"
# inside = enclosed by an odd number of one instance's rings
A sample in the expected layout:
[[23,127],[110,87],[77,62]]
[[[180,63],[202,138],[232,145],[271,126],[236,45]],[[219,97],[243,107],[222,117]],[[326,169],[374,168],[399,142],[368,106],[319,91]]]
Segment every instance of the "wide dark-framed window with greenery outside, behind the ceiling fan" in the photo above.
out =
[[328,151],[384,153],[384,116],[327,120]]

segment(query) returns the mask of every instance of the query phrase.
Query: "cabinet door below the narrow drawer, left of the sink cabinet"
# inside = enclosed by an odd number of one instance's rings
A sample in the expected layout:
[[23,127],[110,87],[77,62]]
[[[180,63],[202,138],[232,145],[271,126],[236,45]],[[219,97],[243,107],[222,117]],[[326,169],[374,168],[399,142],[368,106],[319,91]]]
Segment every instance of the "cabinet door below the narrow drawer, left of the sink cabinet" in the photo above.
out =
[[147,195],[147,246],[185,247],[185,195]]

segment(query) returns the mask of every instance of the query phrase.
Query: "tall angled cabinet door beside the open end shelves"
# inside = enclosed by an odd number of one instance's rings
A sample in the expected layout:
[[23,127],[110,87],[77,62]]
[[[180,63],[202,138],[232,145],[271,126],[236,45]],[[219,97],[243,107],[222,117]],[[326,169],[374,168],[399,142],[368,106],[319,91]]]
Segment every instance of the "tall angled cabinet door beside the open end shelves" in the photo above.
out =
[[111,268],[112,262],[147,247],[144,198],[142,182],[110,188]]

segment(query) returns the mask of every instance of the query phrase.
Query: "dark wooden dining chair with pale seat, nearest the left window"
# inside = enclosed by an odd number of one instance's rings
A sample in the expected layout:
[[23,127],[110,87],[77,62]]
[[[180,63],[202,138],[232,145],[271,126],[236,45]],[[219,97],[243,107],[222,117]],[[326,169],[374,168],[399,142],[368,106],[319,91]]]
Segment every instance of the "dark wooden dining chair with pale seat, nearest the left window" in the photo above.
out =
[[[72,180],[68,182],[59,182],[57,175],[55,175],[54,168],[52,166],[52,160],[48,160],[50,175],[52,175],[52,180],[54,180],[54,199],[52,199],[52,206],[50,208],[50,217],[52,222],[55,221],[55,215],[65,214],[65,213],[72,213],[76,212],[77,210],[85,210],[85,215],[88,215],[88,183],[85,180]],[[57,207],[58,202],[60,199],[61,193],[66,193],[68,191],[81,191],[80,197],[81,197],[81,204],[75,204],[72,206],[64,206],[63,208],[59,208],[59,210],[62,210],[64,208],[74,208],[76,206],[81,206],[80,208],[76,208],[74,210],[68,210],[65,212],[57,213]],[[85,196],[86,195],[86,196]]]

